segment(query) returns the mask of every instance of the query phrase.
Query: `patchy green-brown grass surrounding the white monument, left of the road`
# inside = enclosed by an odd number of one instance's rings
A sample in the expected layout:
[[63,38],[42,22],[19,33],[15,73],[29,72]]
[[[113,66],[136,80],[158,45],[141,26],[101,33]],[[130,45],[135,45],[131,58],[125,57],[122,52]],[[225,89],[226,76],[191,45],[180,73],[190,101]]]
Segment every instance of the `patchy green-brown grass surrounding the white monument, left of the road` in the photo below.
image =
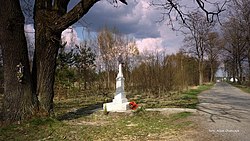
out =
[[[136,100],[146,108],[195,108],[197,94],[211,88],[203,85],[186,92],[161,98]],[[192,113],[166,114],[138,110],[125,113],[103,114],[104,98],[78,97],[55,101],[54,118],[38,118],[0,129],[0,140],[168,140],[183,131],[195,128],[188,119]]]

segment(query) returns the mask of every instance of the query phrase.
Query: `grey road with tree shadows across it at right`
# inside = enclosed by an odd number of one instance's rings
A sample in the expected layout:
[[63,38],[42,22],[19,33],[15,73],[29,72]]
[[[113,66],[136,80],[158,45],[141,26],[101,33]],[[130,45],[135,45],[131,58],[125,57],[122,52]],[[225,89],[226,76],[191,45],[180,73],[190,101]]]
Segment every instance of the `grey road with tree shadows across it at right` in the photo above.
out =
[[250,94],[220,82],[198,98],[201,134],[216,141],[250,141]]

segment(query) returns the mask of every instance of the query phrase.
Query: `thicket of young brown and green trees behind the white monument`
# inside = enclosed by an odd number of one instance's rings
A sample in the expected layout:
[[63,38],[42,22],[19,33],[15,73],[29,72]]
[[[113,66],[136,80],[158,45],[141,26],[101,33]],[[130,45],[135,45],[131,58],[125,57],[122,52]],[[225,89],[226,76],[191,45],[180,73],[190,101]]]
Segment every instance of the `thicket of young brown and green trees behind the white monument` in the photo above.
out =
[[[97,95],[113,93],[119,53],[123,56],[125,89],[130,93],[158,97],[199,85],[199,61],[196,57],[183,51],[172,55],[166,51],[139,53],[133,38],[114,29],[105,27],[94,42],[85,41],[84,45],[71,48],[70,51],[61,49],[57,57],[56,88],[59,97],[68,97],[72,90],[91,91]],[[79,48],[82,52],[77,51]],[[78,58],[85,59],[79,61]],[[78,67],[80,64],[85,65]],[[218,65],[213,62],[211,70],[209,59],[204,59],[202,64],[204,82],[214,81],[211,80],[211,72],[216,72]]]

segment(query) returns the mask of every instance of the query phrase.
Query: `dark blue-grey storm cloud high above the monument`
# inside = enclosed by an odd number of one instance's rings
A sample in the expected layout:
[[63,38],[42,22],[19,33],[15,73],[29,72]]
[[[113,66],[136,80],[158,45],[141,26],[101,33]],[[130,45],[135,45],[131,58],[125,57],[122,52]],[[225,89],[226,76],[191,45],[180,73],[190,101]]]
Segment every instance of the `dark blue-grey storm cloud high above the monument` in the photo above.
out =
[[128,1],[128,5],[118,7],[100,1],[83,17],[89,28],[98,31],[107,26],[136,38],[156,38],[160,36],[156,25],[156,13],[148,10],[145,1]]

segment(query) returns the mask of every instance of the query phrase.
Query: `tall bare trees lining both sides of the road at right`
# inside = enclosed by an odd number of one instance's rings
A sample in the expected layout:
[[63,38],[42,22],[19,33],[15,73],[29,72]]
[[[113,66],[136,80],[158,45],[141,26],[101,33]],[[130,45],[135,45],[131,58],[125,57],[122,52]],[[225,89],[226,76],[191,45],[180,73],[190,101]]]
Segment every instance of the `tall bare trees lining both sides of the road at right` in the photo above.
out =
[[223,77],[239,84],[250,85],[250,2],[232,0],[222,21],[207,22],[200,12],[191,12],[183,23],[184,52],[197,59],[199,84],[203,83],[204,61],[209,61],[210,81],[218,66]]

